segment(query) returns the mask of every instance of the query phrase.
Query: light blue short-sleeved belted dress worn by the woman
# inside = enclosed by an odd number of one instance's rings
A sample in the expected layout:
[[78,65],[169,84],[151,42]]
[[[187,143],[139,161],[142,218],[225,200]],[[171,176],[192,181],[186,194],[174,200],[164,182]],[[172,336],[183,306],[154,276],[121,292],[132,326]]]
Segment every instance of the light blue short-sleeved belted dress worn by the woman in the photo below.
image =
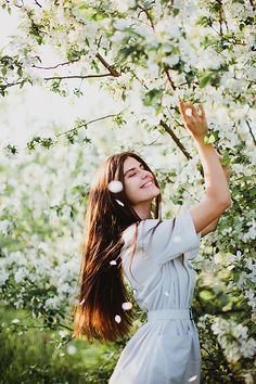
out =
[[108,384],[200,383],[199,334],[188,308],[196,279],[190,259],[197,254],[201,233],[187,208],[163,220],[152,234],[157,222],[138,225],[132,274],[136,225],[123,232],[124,273],[148,321],[123,349]]

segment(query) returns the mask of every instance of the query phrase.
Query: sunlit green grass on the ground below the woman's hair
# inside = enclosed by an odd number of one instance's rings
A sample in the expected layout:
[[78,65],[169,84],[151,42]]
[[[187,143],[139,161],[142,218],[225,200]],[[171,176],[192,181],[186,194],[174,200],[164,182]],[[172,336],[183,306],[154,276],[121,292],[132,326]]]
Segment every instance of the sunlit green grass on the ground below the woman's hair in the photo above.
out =
[[[0,308],[0,384],[107,383],[119,355],[115,345],[62,344],[59,332],[24,331],[25,311]],[[20,322],[13,324],[13,319]],[[38,320],[34,324],[40,327]]]

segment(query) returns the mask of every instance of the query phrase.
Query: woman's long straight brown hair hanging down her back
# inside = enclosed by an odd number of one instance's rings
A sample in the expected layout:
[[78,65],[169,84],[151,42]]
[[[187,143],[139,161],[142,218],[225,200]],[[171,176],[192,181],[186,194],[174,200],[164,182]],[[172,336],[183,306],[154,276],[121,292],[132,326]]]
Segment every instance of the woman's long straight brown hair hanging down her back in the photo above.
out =
[[[132,152],[112,155],[95,174],[86,214],[79,304],[74,322],[74,336],[86,336],[89,343],[114,342],[127,335],[132,325],[133,312],[121,307],[123,303],[129,302],[120,258],[124,245],[121,232],[130,225],[141,221],[141,218],[132,208],[125,191],[124,162],[127,157],[142,163],[159,188],[148,164]],[[108,190],[108,183],[113,180],[123,183],[120,192]],[[154,218],[158,218],[161,194],[155,197],[154,203]],[[119,316],[120,321],[117,321],[116,316]]]

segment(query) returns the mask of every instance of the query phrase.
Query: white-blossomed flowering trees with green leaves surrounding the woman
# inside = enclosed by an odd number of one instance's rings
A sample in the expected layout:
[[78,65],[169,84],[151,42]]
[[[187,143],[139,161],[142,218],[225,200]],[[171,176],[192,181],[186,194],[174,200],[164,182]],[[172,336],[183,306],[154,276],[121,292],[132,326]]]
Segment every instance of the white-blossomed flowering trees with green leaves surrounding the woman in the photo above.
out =
[[[48,327],[67,327],[84,210],[99,158],[124,149],[143,154],[161,181],[166,217],[199,200],[202,166],[177,102],[201,102],[209,120],[206,141],[215,143],[232,169],[233,202],[193,261],[200,272],[194,309],[203,377],[252,383],[254,1],[46,0],[1,5],[21,22],[1,51],[2,97],[16,87],[39,85],[62,97],[73,92],[82,98],[88,97],[84,84],[98,81],[121,105],[115,115],[78,118],[68,131],[31,138],[26,159],[2,158],[2,299],[43,316]],[[54,65],[44,62],[46,48],[55,54]],[[106,130],[92,129],[97,120],[110,119]],[[15,142],[7,152],[18,152]]]

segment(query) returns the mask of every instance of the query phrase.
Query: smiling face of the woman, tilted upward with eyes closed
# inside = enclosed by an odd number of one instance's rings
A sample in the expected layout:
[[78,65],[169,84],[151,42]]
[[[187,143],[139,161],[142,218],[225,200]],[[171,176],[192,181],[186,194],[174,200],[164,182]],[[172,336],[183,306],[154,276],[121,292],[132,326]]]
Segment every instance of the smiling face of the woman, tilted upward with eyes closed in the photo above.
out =
[[127,157],[124,162],[124,179],[126,195],[133,207],[141,203],[151,203],[161,192],[155,185],[153,175],[133,157]]

